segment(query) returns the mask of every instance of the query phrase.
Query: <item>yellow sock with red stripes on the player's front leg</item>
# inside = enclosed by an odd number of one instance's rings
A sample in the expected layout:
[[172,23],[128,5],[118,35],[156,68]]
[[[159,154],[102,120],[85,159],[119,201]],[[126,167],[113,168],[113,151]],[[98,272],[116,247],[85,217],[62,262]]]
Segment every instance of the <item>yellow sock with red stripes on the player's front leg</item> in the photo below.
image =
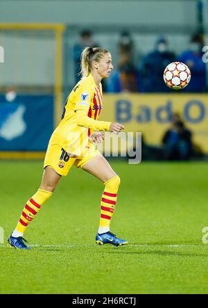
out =
[[102,234],[110,231],[110,220],[116,206],[117,192],[120,185],[118,175],[104,183],[105,189],[101,199],[101,220],[98,233]]

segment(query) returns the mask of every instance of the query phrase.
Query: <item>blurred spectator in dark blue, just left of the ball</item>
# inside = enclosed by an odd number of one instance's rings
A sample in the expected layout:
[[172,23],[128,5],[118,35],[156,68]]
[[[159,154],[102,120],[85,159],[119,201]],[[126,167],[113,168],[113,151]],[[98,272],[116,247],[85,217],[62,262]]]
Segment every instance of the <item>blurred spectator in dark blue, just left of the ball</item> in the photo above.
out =
[[168,42],[160,36],[155,49],[144,56],[139,64],[144,92],[169,92],[162,78],[166,66],[175,60],[175,54],[168,51]]

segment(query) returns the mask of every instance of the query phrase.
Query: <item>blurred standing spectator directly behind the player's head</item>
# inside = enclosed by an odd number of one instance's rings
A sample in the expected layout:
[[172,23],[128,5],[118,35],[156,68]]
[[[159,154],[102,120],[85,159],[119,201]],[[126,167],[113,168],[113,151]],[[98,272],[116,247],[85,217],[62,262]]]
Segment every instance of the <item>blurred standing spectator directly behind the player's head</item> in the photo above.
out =
[[89,30],[81,32],[79,42],[76,42],[73,46],[74,76],[76,83],[80,80],[80,56],[85,47],[99,47],[92,39],[92,33]]

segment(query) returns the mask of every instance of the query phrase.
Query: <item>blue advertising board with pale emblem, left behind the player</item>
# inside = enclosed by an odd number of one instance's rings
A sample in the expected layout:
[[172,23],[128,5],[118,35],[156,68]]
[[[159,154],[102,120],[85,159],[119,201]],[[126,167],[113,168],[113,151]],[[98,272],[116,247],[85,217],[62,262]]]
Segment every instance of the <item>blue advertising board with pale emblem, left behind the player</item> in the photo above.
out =
[[45,151],[53,132],[53,95],[0,95],[0,151]]

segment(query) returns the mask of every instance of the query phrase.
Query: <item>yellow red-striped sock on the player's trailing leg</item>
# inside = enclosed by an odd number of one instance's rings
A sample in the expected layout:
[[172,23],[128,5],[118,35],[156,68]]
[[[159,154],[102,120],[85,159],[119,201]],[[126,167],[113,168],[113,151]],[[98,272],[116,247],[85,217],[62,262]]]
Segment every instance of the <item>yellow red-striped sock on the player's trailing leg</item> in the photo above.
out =
[[46,202],[51,195],[51,191],[43,191],[42,189],[37,190],[37,193],[35,193],[35,195],[33,195],[33,197],[26,202],[19,218],[19,222],[17,223],[15,232],[20,232],[21,234],[25,232],[26,227],[28,227],[28,223],[33,220],[42,204],[44,204],[44,202]]

